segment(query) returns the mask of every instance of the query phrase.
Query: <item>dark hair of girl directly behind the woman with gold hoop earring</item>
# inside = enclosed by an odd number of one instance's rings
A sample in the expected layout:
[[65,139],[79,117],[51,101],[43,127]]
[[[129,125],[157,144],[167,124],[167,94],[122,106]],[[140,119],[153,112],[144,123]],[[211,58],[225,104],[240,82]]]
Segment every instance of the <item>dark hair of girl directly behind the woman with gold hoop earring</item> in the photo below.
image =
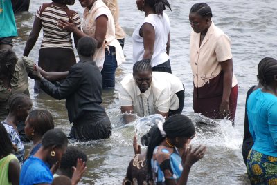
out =
[[43,136],[48,130],[54,128],[54,120],[51,113],[44,109],[31,110],[28,116],[30,126],[32,126],[40,136]]

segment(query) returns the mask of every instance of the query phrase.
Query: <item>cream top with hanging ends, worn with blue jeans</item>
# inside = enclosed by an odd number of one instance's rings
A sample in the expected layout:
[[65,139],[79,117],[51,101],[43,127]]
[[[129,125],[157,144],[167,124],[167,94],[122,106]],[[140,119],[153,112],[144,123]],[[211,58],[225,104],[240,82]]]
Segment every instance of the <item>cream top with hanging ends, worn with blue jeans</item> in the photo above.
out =
[[93,3],[93,6],[90,10],[88,8],[84,9],[82,30],[90,37],[95,38],[96,19],[101,15],[105,15],[108,18],[107,32],[103,45],[101,46],[101,48],[96,48],[96,52],[93,56],[93,61],[96,62],[96,65],[100,70],[102,70],[105,61],[105,49],[107,48],[107,50],[109,51],[108,46],[114,46],[116,48],[115,55],[118,66],[123,61],[125,61],[123,50],[118,40],[116,40],[114,18],[111,14],[111,11],[109,10],[109,8],[107,8],[107,6],[105,5],[105,3],[103,3],[102,0],[97,0],[95,3]]

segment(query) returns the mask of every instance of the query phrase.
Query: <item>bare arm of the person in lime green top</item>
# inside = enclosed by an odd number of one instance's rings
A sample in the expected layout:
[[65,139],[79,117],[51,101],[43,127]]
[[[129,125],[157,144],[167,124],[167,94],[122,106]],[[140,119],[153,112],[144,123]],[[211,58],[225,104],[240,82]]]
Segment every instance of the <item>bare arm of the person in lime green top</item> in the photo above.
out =
[[20,176],[20,164],[15,159],[12,159],[9,163],[8,180],[12,185],[19,184]]

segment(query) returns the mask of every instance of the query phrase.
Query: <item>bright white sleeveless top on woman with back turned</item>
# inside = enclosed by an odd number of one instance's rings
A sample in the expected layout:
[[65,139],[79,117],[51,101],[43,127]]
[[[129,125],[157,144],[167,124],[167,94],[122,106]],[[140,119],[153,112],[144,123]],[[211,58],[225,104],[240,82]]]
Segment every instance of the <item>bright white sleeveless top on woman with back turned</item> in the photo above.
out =
[[[151,59],[151,66],[157,66],[168,61],[169,56],[166,54],[166,43],[168,42],[168,34],[170,32],[170,23],[168,15],[149,14],[145,17],[143,23],[150,23],[155,30],[154,52]],[[144,46],[143,37],[139,35],[139,30],[143,23],[139,25],[133,32],[133,62],[143,59]]]

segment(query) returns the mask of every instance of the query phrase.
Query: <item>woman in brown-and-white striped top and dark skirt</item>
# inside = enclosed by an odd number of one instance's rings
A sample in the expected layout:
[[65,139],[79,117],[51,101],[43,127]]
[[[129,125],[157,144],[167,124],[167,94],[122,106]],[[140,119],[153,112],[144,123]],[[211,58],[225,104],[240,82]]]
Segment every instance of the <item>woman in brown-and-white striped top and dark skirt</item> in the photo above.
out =
[[[79,14],[66,6],[74,3],[75,0],[53,0],[52,3],[42,4],[35,14],[33,30],[30,32],[23,55],[29,55],[42,29],[44,37],[39,50],[38,65],[46,72],[68,71],[76,63],[71,32],[57,26],[57,21],[64,19],[72,21],[78,30],[81,29]],[[74,33],[73,36],[77,46],[78,37]],[[35,92],[38,91],[39,85],[35,84]]]

